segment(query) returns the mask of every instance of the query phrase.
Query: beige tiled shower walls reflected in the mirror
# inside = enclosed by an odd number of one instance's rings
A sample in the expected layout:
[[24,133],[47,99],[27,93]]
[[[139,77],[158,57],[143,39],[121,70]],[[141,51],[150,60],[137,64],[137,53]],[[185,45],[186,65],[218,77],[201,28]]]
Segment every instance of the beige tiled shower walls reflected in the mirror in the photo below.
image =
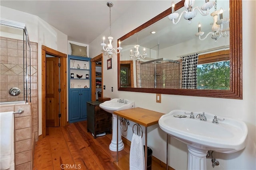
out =
[[[180,88],[180,64],[165,62],[156,64],[156,88]],[[137,87],[154,88],[154,64],[136,61]]]

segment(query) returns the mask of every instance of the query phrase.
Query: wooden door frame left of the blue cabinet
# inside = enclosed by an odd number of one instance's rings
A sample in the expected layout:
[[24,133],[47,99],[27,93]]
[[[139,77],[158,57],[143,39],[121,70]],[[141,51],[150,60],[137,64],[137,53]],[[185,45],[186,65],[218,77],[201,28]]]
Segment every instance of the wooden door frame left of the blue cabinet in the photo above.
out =
[[46,54],[60,58],[60,126],[67,124],[67,55],[42,45],[42,137],[46,137]]

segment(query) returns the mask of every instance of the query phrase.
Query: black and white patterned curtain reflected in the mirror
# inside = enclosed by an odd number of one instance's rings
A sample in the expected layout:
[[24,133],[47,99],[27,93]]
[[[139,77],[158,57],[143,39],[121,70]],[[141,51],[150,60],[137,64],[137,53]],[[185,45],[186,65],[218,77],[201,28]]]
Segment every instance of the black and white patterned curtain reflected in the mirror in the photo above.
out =
[[196,89],[196,70],[198,63],[198,53],[182,57],[182,88]]

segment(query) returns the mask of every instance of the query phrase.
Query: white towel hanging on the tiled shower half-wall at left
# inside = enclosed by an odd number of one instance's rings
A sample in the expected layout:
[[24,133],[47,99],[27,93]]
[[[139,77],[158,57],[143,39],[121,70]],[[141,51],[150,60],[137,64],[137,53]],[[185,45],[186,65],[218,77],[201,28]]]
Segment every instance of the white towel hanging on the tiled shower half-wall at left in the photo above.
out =
[[0,169],[14,169],[13,111],[0,113]]

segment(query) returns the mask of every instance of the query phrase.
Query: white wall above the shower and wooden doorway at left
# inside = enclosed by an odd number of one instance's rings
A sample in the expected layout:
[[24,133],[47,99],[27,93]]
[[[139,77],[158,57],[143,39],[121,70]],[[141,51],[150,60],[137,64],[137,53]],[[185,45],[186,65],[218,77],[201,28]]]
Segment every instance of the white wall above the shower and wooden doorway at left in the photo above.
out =
[[25,23],[31,42],[38,43],[38,135],[42,134],[42,45],[68,53],[68,36],[37,16],[0,6],[1,18]]

